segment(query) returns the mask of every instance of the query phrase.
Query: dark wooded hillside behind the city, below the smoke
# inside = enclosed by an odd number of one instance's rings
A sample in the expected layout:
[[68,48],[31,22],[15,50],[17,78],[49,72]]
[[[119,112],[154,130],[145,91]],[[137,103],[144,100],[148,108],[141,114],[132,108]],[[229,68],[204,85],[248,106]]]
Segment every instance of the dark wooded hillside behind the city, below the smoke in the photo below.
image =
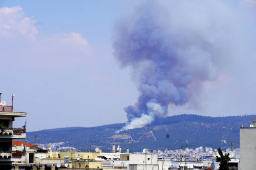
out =
[[39,143],[65,142],[66,146],[79,149],[101,148],[109,150],[111,144],[120,144],[123,149],[134,151],[148,149],[180,149],[188,140],[189,148],[227,147],[234,142],[239,147],[240,127],[248,127],[256,115],[209,117],[199,115],[175,115],[156,120],[145,128],[115,132],[124,124],[99,127],[73,127],[28,132],[27,140],[33,143],[34,135],[40,135]]

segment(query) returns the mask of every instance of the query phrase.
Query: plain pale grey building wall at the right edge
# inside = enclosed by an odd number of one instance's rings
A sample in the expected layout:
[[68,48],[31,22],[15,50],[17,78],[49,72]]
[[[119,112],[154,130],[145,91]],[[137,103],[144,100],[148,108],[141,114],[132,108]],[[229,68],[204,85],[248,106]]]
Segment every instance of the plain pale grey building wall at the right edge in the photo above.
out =
[[240,170],[256,168],[256,127],[240,128]]

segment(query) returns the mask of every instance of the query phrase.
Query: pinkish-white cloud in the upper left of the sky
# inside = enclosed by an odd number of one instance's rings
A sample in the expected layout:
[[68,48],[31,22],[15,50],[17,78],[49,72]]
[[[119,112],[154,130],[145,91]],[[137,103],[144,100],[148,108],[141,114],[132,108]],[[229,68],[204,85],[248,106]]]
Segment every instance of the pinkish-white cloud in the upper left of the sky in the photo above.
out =
[[41,35],[35,23],[20,6],[0,8],[0,55],[5,66],[67,67],[86,61],[90,45],[79,33]]

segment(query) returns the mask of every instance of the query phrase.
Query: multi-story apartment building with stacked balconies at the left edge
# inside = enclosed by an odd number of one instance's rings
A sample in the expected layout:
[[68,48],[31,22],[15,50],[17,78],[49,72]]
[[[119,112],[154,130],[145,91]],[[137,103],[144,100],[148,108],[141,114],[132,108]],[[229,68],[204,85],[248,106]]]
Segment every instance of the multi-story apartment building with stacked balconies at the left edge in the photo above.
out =
[[12,168],[12,162],[25,161],[24,151],[12,151],[13,139],[26,139],[26,127],[13,128],[15,117],[25,117],[27,113],[13,111],[12,105],[6,105],[1,101],[0,93],[0,169],[9,170]]

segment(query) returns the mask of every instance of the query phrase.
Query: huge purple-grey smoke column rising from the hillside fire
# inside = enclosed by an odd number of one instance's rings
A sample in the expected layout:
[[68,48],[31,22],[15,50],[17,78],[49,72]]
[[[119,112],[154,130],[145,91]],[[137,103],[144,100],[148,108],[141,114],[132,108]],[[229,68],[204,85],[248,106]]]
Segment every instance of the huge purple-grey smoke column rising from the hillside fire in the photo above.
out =
[[186,14],[189,10],[185,7],[179,11],[175,6],[167,9],[150,2],[137,8],[131,18],[118,22],[114,55],[122,67],[131,68],[139,91],[138,101],[124,109],[128,122],[120,131],[145,127],[157,117],[166,117],[168,105],[193,103],[202,82],[216,79],[218,63],[229,55],[228,47],[222,46],[228,42],[221,40],[228,22],[207,15],[214,12],[207,9],[211,5],[201,6],[205,13]]

